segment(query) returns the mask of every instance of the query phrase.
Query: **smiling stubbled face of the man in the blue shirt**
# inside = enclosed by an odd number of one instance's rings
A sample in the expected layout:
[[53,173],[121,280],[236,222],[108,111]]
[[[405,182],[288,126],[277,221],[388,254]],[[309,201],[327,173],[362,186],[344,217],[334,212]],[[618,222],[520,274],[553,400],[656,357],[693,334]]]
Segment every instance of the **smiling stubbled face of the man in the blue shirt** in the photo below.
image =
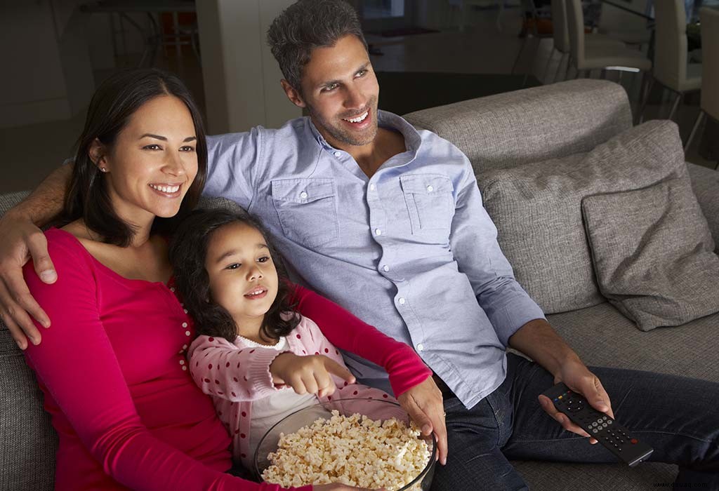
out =
[[332,146],[371,144],[377,135],[380,86],[370,57],[353,34],[332,47],[315,48],[302,77],[301,100]]

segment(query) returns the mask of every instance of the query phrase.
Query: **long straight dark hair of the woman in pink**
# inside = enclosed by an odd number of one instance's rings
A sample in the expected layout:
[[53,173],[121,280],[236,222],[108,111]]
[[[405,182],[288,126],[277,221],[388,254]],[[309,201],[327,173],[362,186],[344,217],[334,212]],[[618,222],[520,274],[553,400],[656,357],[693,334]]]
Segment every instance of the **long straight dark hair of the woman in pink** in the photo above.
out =
[[196,205],[207,174],[207,144],[200,112],[188,88],[171,73],[155,68],[122,70],[100,84],[88,108],[85,128],[77,142],[75,167],[65,198],[64,221],[82,218],[86,226],[101,235],[106,243],[126,247],[135,233],[129,223],[113,209],[104,174],[92,162],[91,144],[98,139],[111,148],[140,106],[160,95],[174,95],[185,103],[195,126],[197,175],[185,195],[180,211],[173,218],[155,218],[153,233],[168,234]]

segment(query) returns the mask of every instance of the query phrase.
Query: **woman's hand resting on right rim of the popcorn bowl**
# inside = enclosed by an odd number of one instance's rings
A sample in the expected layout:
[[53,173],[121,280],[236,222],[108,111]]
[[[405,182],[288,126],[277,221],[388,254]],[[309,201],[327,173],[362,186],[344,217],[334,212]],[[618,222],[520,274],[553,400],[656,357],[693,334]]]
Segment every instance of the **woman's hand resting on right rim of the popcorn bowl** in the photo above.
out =
[[434,431],[437,439],[437,459],[447,462],[447,429],[444,426],[444,401],[442,393],[431,377],[418,383],[397,398],[400,406],[407,411],[412,421],[427,436]]

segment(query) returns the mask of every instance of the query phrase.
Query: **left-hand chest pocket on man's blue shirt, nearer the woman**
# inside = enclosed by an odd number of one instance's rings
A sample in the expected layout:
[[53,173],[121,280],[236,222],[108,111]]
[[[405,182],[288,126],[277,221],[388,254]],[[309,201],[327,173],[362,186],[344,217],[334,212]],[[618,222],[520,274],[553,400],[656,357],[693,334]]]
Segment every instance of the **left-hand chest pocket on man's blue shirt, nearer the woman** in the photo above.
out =
[[333,179],[278,179],[272,199],[285,237],[303,246],[321,246],[339,236]]

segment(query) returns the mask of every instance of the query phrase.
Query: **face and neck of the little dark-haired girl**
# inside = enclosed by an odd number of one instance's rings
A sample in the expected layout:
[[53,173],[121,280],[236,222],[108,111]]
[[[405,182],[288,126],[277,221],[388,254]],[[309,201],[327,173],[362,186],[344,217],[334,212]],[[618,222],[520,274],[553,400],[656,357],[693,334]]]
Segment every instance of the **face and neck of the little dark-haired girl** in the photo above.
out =
[[244,223],[212,233],[205,258],[211,301],[224,307],[238,334],[255,340],[278,291],[278,276],[262,234]]

